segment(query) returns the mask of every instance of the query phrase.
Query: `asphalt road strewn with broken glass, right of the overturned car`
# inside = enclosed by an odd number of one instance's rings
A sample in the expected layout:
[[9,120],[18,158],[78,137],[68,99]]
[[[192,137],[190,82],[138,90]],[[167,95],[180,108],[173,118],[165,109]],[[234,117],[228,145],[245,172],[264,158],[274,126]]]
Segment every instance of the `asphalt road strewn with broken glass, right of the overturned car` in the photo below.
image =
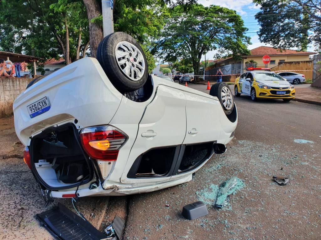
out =
[[[206,85],[188,86],[209,92]],[[124,239],[320,239],[321,107],[242,95],[235,102],[239,122],[227,152],[186,184],[129,197]],[[277,185],[273,175],[290,184]],[[230,177],[245,187],[216,209],[215,189]],[[182,207],[198,200],[209,214],[185,220]]]

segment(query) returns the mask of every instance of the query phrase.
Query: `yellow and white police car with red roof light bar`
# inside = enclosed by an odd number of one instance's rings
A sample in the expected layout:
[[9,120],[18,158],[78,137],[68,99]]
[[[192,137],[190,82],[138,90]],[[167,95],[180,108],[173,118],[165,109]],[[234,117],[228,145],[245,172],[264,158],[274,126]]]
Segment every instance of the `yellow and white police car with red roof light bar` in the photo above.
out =
[[234,94],[237,97],[248,95],[253,101],[270,98],[288,102],[294,99],[295,90],[292,84],[274,72],[248,71],[235,80]]

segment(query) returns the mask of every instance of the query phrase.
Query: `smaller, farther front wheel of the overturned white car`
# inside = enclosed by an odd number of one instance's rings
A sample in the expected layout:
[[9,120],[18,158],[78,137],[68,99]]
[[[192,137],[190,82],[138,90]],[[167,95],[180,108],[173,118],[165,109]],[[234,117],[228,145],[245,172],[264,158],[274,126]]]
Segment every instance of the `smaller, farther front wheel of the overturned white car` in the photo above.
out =
[[226,83],[213,84],[210,90],[210,95],[217,97],[220,100],[221,106],[226,116],[232,113],[234,109],[234,99],[229,85],[227,85]]

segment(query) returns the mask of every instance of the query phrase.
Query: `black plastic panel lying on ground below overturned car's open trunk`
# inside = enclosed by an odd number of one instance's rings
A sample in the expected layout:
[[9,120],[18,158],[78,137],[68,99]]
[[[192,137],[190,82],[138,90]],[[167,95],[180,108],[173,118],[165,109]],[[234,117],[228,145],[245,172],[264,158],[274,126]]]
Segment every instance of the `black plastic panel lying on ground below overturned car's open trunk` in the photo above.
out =
[[108,239],[106,235],[98,231],[88,221],[78,217],[74,212],[60,203],[51,210],[36,214],[36,217],[58,239]]

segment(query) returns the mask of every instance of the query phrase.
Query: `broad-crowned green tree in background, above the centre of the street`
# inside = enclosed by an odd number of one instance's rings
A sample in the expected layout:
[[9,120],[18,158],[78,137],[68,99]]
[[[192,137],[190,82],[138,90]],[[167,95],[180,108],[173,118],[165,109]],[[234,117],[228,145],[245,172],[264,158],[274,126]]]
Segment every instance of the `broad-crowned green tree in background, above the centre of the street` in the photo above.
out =
[[183,58],[197,74],[204,52],[218,50],[234,57],[249,53],[247,28],[234,10],[194,4],[187,12],[177,6],[171,14],[154,48],[165,61]]

